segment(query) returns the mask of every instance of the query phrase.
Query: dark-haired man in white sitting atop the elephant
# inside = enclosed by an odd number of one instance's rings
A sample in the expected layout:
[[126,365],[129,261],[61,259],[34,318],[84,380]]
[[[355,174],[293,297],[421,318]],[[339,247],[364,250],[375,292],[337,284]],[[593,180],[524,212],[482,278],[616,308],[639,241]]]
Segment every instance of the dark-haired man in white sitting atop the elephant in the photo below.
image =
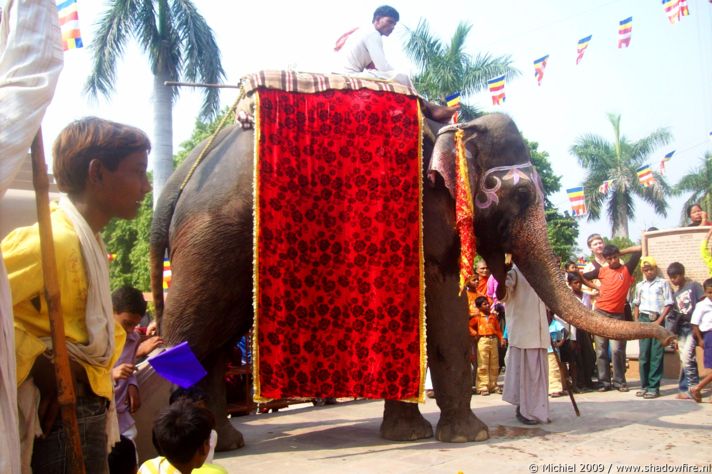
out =
[[[390,36],[400,20],[398,11],[382,5],[373,12],[373,28],[354,28],[343,34],[334,46],[341,53],[342,69],[349,75],[360,75],[369,79],[394,81],[408,87],[413,83],[407,74],[396,71],[386,59],[383,50],[383,36]],[[457,107],[446,107],[423,101],[423,112],[428,118],[447,122],[457,111]]]

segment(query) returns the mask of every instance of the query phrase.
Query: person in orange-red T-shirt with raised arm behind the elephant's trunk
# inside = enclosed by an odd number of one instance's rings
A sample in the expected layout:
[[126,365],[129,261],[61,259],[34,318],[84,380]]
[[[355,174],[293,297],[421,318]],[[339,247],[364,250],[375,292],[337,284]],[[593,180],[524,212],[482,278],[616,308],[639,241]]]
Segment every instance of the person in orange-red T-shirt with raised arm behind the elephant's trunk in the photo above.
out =
[[[625,304],[628,290],[633,284],[633,271],[640,261],[640,247],[629,247],[627,252],[632,252],[632,257],[625,265],[621,262],[621,252],[615,245],[606,245],[603,248],[603,257],[608,266],[598,267],[595,270],[584,273],[587,280],[598,279],[601,282],[599,295],[596,299],[596,312],[601,315],[614,318],[625,319]],[[596,341],[596,366],[598,368],[599,392],[607,392],[613,388],[621,392],[628,391],[628,384],[625,380],[625,346],[626,341],[609,340],[608,338],[595,336]],[[608,353],[608,346],[611,346],[613,356],[613,381],[611,384],[610,362],[611,356]]]

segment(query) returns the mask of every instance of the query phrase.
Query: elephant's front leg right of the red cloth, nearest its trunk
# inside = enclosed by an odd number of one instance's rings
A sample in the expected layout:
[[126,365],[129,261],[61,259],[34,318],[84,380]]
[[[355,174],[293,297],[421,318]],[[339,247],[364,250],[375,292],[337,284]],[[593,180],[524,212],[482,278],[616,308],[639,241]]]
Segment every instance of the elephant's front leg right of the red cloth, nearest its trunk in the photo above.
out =
[[484,441],[489,438],[487,425],[470,409],[467,305],[458,296],[458,276],[427,265],[426,278],[428,363],[441,411],[435,437],[450,443]]

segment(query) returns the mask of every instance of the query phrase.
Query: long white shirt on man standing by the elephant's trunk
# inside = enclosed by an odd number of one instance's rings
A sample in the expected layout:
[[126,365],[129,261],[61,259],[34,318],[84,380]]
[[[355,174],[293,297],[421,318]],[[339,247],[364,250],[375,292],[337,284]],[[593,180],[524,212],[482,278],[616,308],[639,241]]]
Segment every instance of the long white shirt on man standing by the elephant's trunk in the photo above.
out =
[[519,349],[547,349],[549,322],[544,302],[517,267],[507,273],[506,286],[502,302],[507,305],[509,345]]

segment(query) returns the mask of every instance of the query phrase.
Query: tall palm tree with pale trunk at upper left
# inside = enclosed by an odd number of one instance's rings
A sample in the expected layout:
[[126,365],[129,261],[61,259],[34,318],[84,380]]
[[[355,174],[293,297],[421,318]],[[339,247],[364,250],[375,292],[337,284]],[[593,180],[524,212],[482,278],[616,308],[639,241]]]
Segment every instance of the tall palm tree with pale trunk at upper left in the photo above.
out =
[[[108,96],[114,88],[116,61],[132,35],[148,53],[153,72],[154,204],[173,171],[173,101],[177,88],[164,85],[181,76],[191,82],[218,83],[225,73],[213,32],[191,0],[110,0],[91,49],[93,68],[86,91]],[[218,89],[205,88],[201,116],[219,110]]]

